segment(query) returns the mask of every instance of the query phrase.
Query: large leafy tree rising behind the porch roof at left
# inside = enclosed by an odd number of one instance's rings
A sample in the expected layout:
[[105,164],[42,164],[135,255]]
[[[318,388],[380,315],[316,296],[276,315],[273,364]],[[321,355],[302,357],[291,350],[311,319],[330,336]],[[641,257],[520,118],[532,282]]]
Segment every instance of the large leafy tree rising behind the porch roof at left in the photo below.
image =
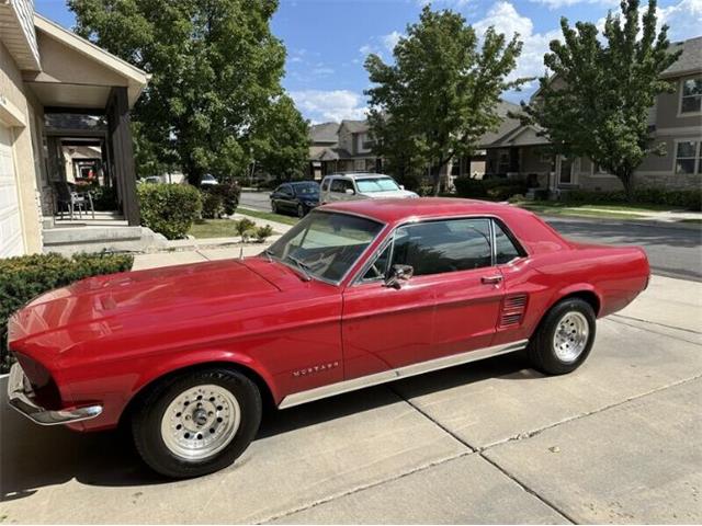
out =
[[141,173],[179,164],[199,184],[206,172],[224,179],[246,172],[252,130],[263,129],[283,94],[285,49],[270,31],[276,0],[68,5],[78,34],[152,76],[132,114]]

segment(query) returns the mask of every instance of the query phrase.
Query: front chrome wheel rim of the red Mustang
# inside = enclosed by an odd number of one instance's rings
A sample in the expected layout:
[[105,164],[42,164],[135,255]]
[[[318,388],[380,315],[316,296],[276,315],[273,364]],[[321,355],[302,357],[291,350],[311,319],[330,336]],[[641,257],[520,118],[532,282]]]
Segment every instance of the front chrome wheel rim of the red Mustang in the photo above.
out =
[[215,385],[178,395],[161,419],[166,447],[183,460],[203,460],[227,447],[241,423],[236,397]]

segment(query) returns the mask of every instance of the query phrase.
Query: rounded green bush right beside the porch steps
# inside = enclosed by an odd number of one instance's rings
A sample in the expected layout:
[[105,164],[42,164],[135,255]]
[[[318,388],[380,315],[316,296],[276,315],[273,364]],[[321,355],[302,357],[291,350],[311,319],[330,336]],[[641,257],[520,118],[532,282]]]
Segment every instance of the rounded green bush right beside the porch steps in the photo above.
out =
[[184,238],[202,210],[200,192],[189,184],[140,184],[137,194],[141,225],[168,239]]

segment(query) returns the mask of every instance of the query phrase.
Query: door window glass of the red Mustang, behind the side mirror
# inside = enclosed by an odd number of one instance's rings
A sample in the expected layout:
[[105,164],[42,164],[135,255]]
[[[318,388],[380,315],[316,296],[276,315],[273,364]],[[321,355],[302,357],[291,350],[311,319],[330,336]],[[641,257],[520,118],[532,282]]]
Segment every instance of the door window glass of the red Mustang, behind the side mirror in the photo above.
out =
[[452,219],[409,225],[397,230],[393,264],[411,265],[415,275],[490,266],[489,219]]

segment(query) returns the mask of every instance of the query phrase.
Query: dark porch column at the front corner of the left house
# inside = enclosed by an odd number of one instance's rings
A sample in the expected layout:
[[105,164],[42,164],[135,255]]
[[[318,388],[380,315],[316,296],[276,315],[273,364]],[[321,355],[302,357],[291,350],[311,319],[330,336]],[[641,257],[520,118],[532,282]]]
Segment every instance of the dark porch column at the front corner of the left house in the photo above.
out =
[[127,89],[114,87],[107,100],[107,140],[112,146],[112,163],[116,186],[122,197],[124,216],[131,226],[139,225],[139,203],[136,196],[136,171],[134,170],[134,147],[129,127],[129,103]]

